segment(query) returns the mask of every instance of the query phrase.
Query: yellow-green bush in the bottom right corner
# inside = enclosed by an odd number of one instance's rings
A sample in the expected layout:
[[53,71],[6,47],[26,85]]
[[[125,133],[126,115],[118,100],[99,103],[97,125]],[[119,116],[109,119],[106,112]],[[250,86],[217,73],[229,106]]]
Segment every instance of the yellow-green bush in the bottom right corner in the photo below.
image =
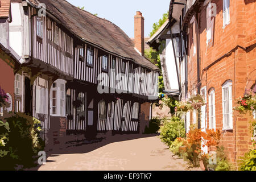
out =
[[247,152],[242,160],[241,171],[256,171],[256,150]]

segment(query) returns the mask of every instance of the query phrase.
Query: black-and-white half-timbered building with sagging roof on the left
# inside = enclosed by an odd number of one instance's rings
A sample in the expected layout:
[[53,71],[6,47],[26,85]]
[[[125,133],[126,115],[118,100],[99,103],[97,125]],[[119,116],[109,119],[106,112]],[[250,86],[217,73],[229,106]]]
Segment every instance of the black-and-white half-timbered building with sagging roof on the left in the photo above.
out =
[[14,48],[22,58],[18,111],[43,122],[49,143],[143,132],[159,70],[125,32],[67,1],[11,1],[10,10],[10,42],[19,40]]

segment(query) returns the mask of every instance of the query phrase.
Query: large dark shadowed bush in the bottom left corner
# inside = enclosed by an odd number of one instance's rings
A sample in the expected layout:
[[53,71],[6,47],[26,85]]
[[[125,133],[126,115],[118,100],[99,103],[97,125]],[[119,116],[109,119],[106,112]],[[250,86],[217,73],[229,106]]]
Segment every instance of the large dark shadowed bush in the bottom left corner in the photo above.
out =
[[13,170],[16,165],[29,168],[35,166],[38,151],[44,142],[39,137],[40,121],[22,113],[10,114],[0,123],[0,135],[7,135],[5,144],[0,146],[0,169]]

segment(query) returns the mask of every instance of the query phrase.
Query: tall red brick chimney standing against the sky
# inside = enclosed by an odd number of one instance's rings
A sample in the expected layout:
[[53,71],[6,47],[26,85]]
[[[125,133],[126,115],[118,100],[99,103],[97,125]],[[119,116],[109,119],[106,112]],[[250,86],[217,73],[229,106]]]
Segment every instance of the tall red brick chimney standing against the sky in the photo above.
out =
[[144,18],[140,11],[134,16],[134,44],[135,48],[144,56]]

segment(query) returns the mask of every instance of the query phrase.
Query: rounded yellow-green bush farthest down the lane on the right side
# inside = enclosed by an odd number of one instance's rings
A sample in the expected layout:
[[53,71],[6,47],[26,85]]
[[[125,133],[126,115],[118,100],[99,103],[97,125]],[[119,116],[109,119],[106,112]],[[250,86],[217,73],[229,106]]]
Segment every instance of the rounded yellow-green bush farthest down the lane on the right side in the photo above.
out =
[[160,139],[162,142],[171,146],[172,142],[178,137],[185,137],[184,121],[179,117],[172,117],[170,121],[164,121],[160,128]]

